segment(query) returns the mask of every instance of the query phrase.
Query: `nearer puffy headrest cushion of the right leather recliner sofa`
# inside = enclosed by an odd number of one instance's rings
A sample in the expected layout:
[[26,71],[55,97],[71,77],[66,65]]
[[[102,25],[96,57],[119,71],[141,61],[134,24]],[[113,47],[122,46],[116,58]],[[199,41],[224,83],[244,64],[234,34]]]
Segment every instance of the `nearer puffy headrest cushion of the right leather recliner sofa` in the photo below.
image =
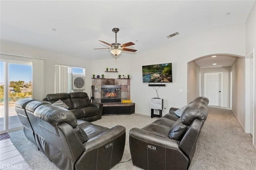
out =
[[205,121],[207,116],[207,105],[203,102],[193,102],[184,109],[181,115],[181,120],[183,124],[190,125],[194,119]]

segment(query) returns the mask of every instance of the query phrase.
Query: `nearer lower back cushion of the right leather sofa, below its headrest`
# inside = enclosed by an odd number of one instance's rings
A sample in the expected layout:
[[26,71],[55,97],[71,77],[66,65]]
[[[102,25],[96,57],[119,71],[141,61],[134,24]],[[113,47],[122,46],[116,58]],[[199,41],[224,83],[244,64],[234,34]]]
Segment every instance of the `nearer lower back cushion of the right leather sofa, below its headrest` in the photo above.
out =
[[188,129],[187,125],[182,124],[182,120],[178,119],[171,127],[168,137],[180,141]]

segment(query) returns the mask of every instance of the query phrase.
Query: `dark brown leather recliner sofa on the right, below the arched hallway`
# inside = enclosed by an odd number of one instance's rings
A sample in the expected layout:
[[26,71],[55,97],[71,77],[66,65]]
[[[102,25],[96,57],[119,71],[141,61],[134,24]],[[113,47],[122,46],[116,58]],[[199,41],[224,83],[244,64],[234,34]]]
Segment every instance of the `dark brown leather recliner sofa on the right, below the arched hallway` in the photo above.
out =
[[149,170],[186,170],[208,115],[208,98],[198,97],[178,117],[177,108],[142,129],[130,130],[132,163]]

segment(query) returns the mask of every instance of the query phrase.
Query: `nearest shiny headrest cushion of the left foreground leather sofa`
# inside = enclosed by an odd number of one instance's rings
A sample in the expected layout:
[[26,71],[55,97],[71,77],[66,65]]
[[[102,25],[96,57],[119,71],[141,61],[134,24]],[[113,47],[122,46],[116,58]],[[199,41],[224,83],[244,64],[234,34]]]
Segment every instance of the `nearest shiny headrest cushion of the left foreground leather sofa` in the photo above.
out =
[[68,123],[72,127],[77,126],[76,116],[72,111],[54,105],[41,105],[34,111],[34,116],[42,121],[57,126],[60,123]]

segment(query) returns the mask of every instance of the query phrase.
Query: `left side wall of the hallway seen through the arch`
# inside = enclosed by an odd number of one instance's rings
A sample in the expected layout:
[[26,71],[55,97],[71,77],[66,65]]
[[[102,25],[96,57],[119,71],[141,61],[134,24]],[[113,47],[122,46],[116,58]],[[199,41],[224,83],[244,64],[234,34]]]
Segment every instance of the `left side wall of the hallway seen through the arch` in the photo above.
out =
[[[187,103],[199,96],[200,67],[196,62],[188,63],[188,99]],[[185,90],[186,91],[186,90]]]

